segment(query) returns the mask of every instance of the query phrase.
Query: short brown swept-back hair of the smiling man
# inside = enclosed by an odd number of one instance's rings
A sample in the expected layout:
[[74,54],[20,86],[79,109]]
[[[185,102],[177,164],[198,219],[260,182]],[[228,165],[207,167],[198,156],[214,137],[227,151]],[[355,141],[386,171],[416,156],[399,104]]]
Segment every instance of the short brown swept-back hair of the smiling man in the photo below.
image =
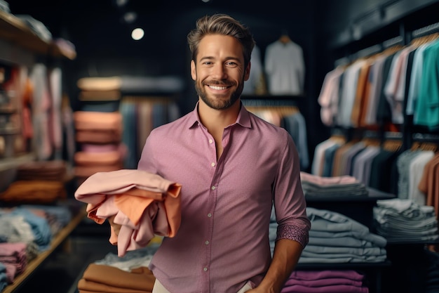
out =
[[194,62],[196,62],[198,45],[206,34],[224,34],[236,38],[243,45],[244,65],[247,67],[255,47],[255,40],[248,27],[226,14],[205,15],[199,18],[196,21],[196,28],[187,35],[187,43]]

